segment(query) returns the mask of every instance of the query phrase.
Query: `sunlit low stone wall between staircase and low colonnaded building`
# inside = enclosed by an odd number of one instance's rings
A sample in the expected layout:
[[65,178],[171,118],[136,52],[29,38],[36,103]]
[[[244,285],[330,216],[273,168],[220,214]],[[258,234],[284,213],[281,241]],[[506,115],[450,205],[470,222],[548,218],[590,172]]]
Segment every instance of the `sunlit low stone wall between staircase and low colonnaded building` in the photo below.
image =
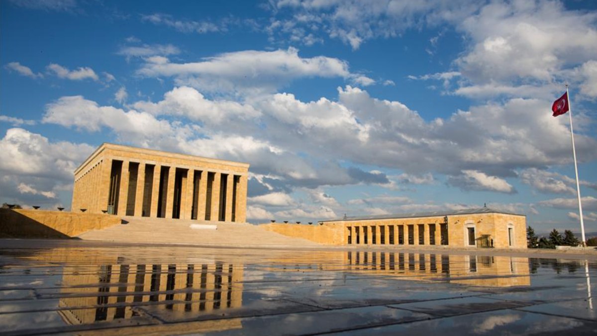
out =
[[260,224],[260,228],[283,234],[284,236],[302,238],[311,242],[326,245],[344,245],[343,225],[304,225],[304,224]]

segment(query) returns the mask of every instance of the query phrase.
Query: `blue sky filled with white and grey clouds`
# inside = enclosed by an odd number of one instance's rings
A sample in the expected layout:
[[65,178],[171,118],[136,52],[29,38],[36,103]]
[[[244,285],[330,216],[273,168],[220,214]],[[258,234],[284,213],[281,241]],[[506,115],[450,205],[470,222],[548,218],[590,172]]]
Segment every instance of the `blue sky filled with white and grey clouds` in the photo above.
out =
[[597,231],[594,1],[0,2],[0,201],[103,142],[251,164],[248,220],[487,206]]

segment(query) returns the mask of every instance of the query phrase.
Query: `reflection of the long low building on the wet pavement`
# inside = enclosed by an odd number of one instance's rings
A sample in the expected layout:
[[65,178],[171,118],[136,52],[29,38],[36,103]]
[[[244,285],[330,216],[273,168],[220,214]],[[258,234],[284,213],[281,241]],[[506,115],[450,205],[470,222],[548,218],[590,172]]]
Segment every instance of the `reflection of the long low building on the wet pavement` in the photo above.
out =
[[470,286],[529,286],[527,258],[509,256],[436,255],[431,253],[360,252],[345,253],[348,270],[387,274],[405,280],[438,280]]

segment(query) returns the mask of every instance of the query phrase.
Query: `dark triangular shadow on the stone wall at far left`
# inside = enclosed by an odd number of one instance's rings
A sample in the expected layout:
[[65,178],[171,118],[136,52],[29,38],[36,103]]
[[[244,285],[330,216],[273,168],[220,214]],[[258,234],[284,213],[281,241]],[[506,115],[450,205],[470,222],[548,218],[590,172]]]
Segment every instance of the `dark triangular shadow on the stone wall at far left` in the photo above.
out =
[[78,239],[69,237],[13,209],[0,209],[0,238]]

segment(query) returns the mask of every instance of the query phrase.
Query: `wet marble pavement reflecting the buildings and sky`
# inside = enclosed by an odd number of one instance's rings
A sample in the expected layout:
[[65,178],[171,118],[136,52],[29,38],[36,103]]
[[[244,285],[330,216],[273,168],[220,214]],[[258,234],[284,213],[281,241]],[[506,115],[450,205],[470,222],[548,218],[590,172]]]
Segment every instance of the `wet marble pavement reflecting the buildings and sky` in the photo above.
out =
[[597,334],[597,262],[442,253],[0,240],[0,334]]

